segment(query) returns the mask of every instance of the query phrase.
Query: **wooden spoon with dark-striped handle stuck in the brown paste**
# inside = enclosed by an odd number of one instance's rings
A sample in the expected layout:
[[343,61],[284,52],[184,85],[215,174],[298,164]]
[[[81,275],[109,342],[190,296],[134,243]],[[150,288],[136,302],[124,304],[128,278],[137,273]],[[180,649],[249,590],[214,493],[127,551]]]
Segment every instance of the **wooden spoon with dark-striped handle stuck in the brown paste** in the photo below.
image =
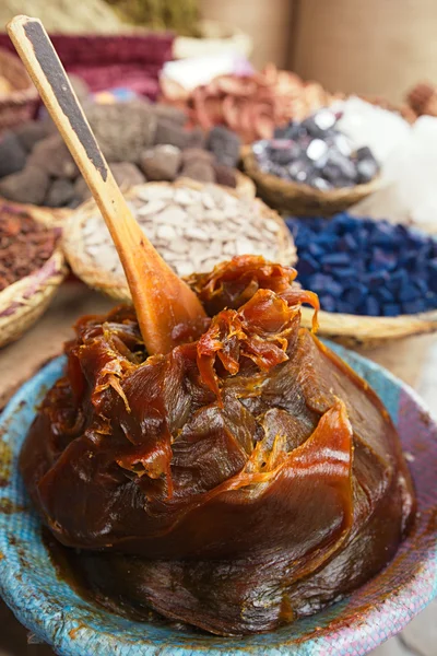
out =
[[200,325],[203,307],[134,220],[42,22],[15,16],[7,28],[109,229],[147,352],[166,353],[176,345],[175,328]]

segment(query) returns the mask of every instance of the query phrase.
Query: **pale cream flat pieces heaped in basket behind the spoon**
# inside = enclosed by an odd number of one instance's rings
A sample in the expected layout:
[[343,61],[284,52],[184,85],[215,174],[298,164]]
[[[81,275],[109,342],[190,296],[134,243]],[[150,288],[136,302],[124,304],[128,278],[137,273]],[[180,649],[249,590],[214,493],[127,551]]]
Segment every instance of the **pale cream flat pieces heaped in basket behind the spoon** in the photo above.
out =
[[[215,185],[196,189],[182,184],[144,185],[128,199],[147,237],[181,277],[209,271],[235,255],[262,255],[286,265],[296,259],[284,222],[259,200],[238,198]],[[123,277],[97,210],[82,224],[81,241],[96,268]]]

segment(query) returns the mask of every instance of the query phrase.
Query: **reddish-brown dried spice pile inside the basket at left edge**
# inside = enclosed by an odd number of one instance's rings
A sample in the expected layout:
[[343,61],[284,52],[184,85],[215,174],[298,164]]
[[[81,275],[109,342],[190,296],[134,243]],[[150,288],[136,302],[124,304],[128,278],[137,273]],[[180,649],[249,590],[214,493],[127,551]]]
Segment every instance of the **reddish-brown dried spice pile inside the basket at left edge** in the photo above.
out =
[[31,216],[0,212],[0,291],[39,269],[51,256],[56,232]]

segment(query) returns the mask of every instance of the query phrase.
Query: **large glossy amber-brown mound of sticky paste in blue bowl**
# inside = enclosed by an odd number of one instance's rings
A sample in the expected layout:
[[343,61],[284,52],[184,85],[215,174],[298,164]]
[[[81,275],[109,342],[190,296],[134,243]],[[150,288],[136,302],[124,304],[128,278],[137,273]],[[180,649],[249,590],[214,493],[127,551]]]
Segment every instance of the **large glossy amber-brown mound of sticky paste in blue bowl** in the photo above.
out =
[[189,280],[208,317],[147,356],[134,311],[83,317],[21,454],[87,589],[221,635],[274,630],[377,574],[414,515],[382,403],[300,328],[294,269]]

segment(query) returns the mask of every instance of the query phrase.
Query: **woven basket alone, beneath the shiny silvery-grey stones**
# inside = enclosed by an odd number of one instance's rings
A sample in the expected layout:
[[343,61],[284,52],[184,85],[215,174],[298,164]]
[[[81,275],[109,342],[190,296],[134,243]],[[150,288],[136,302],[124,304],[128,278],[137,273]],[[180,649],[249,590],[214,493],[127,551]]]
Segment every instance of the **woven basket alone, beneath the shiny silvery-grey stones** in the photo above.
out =
[[377,177],[365,185],[320,191],[309,185],[284,180],[263,173],[250,148],[243,149],[243,165],[255,181],[259,196],[272,208],[287,214],[331,216],[363,200],[379,188]]

